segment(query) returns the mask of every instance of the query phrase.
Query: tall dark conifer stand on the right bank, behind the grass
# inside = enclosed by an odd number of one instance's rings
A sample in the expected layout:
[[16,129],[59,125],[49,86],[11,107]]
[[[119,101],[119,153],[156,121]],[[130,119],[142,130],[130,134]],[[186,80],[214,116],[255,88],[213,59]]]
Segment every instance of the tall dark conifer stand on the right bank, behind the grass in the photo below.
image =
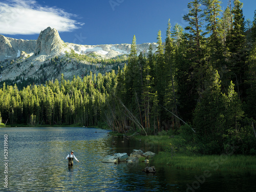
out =
[[240,1],[224,12],[220,4],[190,2],[187,32],[168,23],[165,43],[158,32],[156,54],[151,48],[138,55],[134,36],[109,108],[115,131],[185,132],[203,154],[223,153],[231,143],[237,153],[255,154],[256,12],[245,21]]

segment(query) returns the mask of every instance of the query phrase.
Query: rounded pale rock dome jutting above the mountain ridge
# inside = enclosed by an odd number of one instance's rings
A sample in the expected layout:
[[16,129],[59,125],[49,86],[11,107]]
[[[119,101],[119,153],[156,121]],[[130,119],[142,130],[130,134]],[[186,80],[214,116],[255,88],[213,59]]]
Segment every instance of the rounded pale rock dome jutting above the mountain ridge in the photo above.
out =
[[67,45],[63,42],[56,29],[48,27],[40,32],[36,41],[36,54],[57,55],[65,50]]

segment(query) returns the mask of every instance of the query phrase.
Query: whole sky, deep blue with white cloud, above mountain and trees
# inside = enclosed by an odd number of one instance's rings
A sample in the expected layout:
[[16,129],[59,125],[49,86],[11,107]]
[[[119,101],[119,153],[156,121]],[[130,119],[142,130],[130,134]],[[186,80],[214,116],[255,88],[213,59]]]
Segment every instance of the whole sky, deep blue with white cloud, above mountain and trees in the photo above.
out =
[[[137,44],[165,38],[167,22],[183,28],[191,0],[0,0],[0,34],[37,39],[41,30],[56,28],[65,42],[82,45]],[[228,0],[223,0],[226,8]],[[245,19],[253,20],[255,0],[244,3]]]

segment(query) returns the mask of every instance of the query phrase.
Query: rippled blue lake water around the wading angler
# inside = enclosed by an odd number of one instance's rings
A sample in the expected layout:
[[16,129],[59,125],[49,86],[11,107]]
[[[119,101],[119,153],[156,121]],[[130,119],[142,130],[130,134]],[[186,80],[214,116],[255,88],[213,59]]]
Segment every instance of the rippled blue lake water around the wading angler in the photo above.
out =
[[[97,132],[97,133],[96,133]],[[1,191],[256,191],[255,172],[214,172],[205,179],[195,170],[146,164],[102,163],[113,153],[133,149],[157,153],[157,146],[108,136],[109,131],[81,127],[16,127],[0,129]],[[8,135],[8,188],[5,188],[4,135]],[[115,140],[117,144],[113,145]],[[65,159],[74,150],[79,163]],[[197,178],[197,179],[196,179]],[[193,190],[188,188],[193,186]]]

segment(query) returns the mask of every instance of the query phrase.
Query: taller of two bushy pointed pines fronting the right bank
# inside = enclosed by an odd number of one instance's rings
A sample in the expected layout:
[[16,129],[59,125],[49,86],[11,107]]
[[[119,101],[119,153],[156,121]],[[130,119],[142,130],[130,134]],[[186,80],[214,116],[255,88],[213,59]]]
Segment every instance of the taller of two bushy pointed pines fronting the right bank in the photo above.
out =
[[221,81],[218,71],[212,74],[205,84],[205,91],[198,102],[194,113],[194,127],[198,140],[206,146],[202,148],[205,154],[220,153],[222,123],[224,121],[224,100],[221,92]]

